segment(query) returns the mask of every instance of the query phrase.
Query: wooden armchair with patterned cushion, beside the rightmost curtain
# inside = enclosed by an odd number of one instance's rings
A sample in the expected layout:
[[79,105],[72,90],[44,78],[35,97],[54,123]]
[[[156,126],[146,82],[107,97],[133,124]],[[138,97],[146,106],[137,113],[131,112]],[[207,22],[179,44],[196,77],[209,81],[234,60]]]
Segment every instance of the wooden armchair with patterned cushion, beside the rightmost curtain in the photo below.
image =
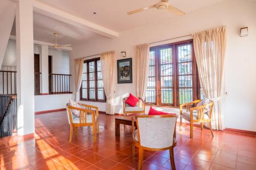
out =
[[[197,100],[180,105],[180,128],[182,126],[182,118],[190,123],[190,138],[193,138],[193,123],[201,123],[201,130],[203,130],[203,123],[209,123],[211,136],[214,137],[211,128],[211,113],[214,106],[214,102],[208,100],[207,104],[198,106],[198,103],[202,100]],[[193,107],[193,105],[196,105]],[[183,107],[186,107],[184,112]]]

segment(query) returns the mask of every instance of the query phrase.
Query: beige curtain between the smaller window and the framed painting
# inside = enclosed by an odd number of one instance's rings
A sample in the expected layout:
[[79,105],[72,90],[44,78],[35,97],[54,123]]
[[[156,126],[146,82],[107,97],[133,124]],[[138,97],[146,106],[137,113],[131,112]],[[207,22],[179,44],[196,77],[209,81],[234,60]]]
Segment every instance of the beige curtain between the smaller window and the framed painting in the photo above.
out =
[[106,94],[106,114],[115,114],[114,106],[114,66],[115,52],[105,52],[100,54],[101,72],[104,90]]

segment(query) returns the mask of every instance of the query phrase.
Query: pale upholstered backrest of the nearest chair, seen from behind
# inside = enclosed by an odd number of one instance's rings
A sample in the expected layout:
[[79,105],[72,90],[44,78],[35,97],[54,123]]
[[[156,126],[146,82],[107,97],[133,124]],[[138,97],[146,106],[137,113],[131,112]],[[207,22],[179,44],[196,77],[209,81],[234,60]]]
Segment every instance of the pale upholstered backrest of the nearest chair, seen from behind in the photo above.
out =
[[172,147],[176,136],[176,115],[137,116],[138,140],[142,147]]

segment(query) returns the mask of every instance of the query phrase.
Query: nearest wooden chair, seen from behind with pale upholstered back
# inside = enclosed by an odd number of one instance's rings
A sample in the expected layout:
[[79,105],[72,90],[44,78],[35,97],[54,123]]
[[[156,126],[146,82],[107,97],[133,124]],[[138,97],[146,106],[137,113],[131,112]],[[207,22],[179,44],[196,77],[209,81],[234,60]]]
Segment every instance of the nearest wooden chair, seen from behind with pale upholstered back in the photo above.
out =
[[[139,170],[142,168],[143,150],[169,150],[172,169],[176,169],[174,162],[174,147],[177,144],[176,120],[176,115],[132,116],[133,155],[135,155],[136,146],[139,148]],[[137,130],[134,126],[135,121]]]

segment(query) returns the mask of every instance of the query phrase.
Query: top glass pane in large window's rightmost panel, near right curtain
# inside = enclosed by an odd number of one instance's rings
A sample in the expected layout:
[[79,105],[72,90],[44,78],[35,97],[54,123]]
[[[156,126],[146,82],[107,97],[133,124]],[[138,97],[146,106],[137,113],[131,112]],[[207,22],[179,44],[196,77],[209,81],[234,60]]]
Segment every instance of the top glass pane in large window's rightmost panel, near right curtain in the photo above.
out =
[[191,44],[179,45],[178,46],[178,62],[189,62],[191,58]]

